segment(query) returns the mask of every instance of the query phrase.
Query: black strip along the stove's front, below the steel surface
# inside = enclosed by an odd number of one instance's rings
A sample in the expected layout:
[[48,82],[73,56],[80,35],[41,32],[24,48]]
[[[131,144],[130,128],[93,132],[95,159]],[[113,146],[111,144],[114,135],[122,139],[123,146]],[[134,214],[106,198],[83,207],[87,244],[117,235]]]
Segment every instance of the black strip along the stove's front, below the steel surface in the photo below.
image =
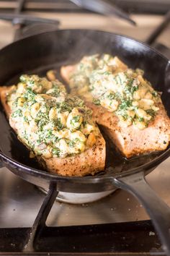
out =
[[[16,252],[15,255],[17,252],[22,252],[30,230],[29,228],[0,229],[0,237],[3,238],[0,255],[2,252]],[[140,252],[142,255],[146,253],[164,255],[151,221],[45,227],[32,252],[109,253],[109,255]]]

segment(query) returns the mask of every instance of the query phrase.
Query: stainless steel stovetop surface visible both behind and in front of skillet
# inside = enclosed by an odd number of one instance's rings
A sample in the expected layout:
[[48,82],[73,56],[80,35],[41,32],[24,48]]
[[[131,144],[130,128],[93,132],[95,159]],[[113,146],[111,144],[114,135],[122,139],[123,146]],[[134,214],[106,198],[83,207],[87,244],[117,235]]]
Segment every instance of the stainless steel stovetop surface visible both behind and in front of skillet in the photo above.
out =
[[[137,27],[132,27],[117,18],[102,17],[97,14],[55,14],[33,13],[39,17],[58,19],[61,28],[95,28],[115,33],[129,35],[138,40],[146,40],[151,31],[161,22],[159,15],[133,15]],[[158,41],[170,47],[170,27],[158,38]],[[11,43],[14,36],[14,27],[0,22],[0,46]],[[161,163],[147,181],[158,195],[170,206],[170,158]],[[0,228],[31,227],[45,195],[34,185],[25,182],[12,174],[8,169],[0,168]],[[48,216],[48,226],[79,226],[101,223],[120,223],[128,221],[143,221],[149,217],[142,205],[128,192],[117,189],[102,200],[71,205],[56,201]],[[154,236],[154,233],[151,235]],[[0,236],[0,244],[1,244]],[[145,248],[144,248],[145,250]]]

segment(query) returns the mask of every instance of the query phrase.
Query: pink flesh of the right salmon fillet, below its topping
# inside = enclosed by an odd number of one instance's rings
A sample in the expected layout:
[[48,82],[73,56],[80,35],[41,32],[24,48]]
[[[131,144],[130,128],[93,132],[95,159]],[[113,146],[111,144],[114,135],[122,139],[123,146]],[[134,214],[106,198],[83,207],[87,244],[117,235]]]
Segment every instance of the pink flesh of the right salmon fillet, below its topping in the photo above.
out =
[[[71,72],[76,65],[61,67],[61,76],[69,85]],[[73,88],[73,93],[75,93]],[[117,146],[126,158],[142,153],[150,153],[157,150],[165,150],[170,141],[170,119],[162,103],[158,103],[158,112],[145,129],[138,129],[130,125],[124,127],[117,115],[107,111],[107,108],[97,106],[84,98],[86,105],[93,110],[94,120],[104,127],[112,142]]]

